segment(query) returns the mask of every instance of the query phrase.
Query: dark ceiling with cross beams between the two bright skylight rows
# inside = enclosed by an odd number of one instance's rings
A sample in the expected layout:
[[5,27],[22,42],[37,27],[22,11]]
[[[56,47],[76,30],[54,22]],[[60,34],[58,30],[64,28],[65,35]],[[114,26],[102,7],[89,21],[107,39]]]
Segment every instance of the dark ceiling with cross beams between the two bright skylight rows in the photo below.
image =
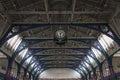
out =
[[[98,31],[104,32],[116,1],[0,0],[0,3],[4,7],[3,13],[12,22],[12,28],[18,30],[17,33],[29,45],[30,52],[42,68],[77,68],[91,50],[91,46],[84,41],[91,45],[96,43],[101,34]],[[84,24],[89,28],[80,27]],[[22,32],[24,29],[26,31]],[[58,45],[53,40],[58,29],[67,33],[68,41],[64,45]]]

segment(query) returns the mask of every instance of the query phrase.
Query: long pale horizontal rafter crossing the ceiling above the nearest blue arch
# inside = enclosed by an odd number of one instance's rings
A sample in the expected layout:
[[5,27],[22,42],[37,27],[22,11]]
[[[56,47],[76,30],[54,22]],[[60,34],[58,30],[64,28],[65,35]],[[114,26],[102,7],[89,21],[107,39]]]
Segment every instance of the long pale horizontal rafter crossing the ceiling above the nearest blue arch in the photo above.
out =
[[[47,14],[110,14],[111,11],[48,11]],[[28,14],[46,14],[46,11],[9,11],[7,14],[28,15]]]

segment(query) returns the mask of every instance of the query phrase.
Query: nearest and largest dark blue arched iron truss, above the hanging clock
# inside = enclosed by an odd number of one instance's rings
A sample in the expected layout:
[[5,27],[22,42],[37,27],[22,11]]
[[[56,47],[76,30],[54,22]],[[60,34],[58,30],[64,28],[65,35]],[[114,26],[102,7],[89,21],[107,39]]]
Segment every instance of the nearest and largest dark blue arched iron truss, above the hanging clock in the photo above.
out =
[[[88,28],[95,31],[98,31],[100,33],[103,33],[107,35],[108,37],[112,38],[116,43],[120,45],[120,39],[117,37],[117,35],[112,31],[112,29],[109,27],[107,23],[61,23],[61,24],[12,24],[11,27],[8,29],[6,34],[2,37],[1,41],[2,43],[6,42],[11,37],[20,34],[22,32],[25,32],[30,29],[39,28],[39,27],[48,27],[48,26],[59,26],[62,27],[66,26],[76,26],[76,27],[82,27],[82,28]],[[17,28],[18,31],[14,32],[13,29]],[[12,33],[11,35],[8,35]],[[112,34],[112,35],[111,35]],[[1,43],[1,45],[2,45]]]

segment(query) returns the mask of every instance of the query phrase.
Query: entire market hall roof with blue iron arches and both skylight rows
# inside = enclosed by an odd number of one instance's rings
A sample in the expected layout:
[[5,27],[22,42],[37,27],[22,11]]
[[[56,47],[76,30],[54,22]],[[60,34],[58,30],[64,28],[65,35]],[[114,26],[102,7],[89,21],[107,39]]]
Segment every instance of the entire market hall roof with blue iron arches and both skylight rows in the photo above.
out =
[[[72,68],[81,75],[100,66],[120,45],[109,20],[119,0],[0,0],[10,23],[1,45],[31,74],[49,68]],[[57,30],[67,41],[56,44]]]

